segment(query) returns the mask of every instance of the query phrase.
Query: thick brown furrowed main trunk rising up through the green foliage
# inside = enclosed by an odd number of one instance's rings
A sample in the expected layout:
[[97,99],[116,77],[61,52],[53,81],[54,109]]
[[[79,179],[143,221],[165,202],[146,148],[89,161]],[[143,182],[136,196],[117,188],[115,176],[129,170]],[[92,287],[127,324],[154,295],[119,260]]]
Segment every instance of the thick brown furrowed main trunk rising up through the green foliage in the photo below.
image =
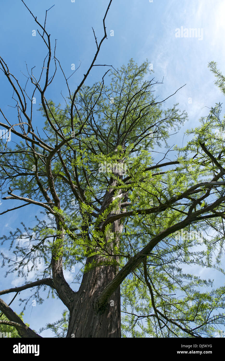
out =
[[[119,163],[121,162],[122,161],[119,160]],[[115,176],[120,179],[123,178],[122,171],[119,167],[115,169]],[[110,187],[105,193],[101,211],[99,212],[101,214],[107,209],[115,199],[114,193],[116,191],[116,197],[119,197],[119,203],[108,217],[120,213],[122,191],[121,189],[116,190],[116,183],[116,179],[110,179]],[[125,199],[127,200],[127,195]],[[123,209],[123,212],[126,212],[126,208]],[[99,225],[99,230],[101,230],[102,223]],[[75,306],[70,313],[67,337],[121,337],[120,286],[110,296],[107,304],[104,305],[100,311],[97,309],[97,298],[119,271],[119,267],[115,265],[115,261],[116,264],[118,264],[119,257],[114,254],[114,246],[116,245],[118,249],[120,248],[120,235],[122,230],[123,225],[117,220],[113,222],[112,225],[112,239],[109,235],[106,237],[106,244],[104,246],[106,251],[105,255],[109,253],[112,256],[104,257],[103,255],[96,255],[87,258],[86,264],[93,262],[93,260],[97,264],[99,262],[102,264],[105,260],[108,262],[108,265],[96,266],[89,272],[84,273],[81,286],[76,294]],[[112,261],[111,265],[109,265],[109,260]]]

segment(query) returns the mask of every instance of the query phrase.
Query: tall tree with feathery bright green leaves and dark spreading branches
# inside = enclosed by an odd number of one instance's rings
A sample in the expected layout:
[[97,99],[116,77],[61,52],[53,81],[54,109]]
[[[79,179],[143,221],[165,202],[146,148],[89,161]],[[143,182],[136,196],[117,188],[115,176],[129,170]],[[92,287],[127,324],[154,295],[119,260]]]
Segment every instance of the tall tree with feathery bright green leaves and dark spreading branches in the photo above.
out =
[[[162,158],[153,158],[187,114],[178,104],[162,108],[169,96],[157,101],[159,83],[148,80],[148,61],[138,66],[131,59],[120,69],[102,65],[109,69],[101,82],[85,85],[90,70],[100,66],[95,61],[107,37],[110,4],[103,37],[97,42],[93,30],[97,51],[74,92],[55,48],[52,53],[46,19],[41,25],[30,10],[48,52],[41,76],[27,68],[31,96],[0,58],[18,118],[12,124],[0,109],[0,125],[16,142],[1,142],[1,190],[8,193],[3,200],[22,201],[5,212],[31,204],[42,209],[35,227],[22,221],[22,230],[1,238],[14,247],[14,258],[1,253],[7,272],[25,277],[27,270],[36,270],[36,280],[0,295],[33,288],[31,297],[42,303],[39,290],[48,288],[67,307],[61,320],[47,326],[57,337],[67,329],[68,338],[119,338],[121,306],[123,337],[211,337],[224,324],[224,286],[210,289],[212,280],[183,268],[200,265],[224,274],[224,139],[215,133],[225,125],[221,104],[188,131],[192,139],[186,146],[167,147]],[[68,87],[64,106],[45,96],[57,67]],[[215,67],[211,63],[211,70]],[[223,86],[224,78],[217,76]],[[43,119],[37,131],[32,123],[36,93]],[[14,245],[18,239],[23,242]],[[75,265],[82,267],[77,292],[63,274]],[[21,337],[41,337],[1,299],[0,310]]]

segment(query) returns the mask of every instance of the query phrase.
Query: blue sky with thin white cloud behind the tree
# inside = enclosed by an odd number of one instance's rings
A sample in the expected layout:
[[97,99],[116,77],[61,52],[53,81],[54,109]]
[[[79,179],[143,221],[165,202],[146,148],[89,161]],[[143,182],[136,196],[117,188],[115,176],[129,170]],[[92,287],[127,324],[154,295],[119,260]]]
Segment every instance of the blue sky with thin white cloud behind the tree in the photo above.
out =
[[[52,45],[54,39],[57,39],[56,56],[67,77],[72,74],[71,64],[77,67],[81,62],[80,68],[69,79],[71,89],[76,89],[96,52],[92,27],[98,40],[102,38],[102,18],[108,1],[75,0],[72,3],[71,0],[27,0],[26,4],[41,22],[44,20],[45,10],[55,4],[48,12],[46,29],[51,34]],[[223,0],[112,0],[106,18],[108,39],[104,41],[95,64],[109,64],[117,68],[127,64],[130,58],[138,64],[148,58],[153,65],[155,80],[162,81],[164,77],[164,84],[158,84],[156,88],[159,100],[186,84],[166,103],[166,106],[179,103],[179,108],[186,109],[189,116],[189,121],[184,124],[179,135],[171,138],[170,145],[181,144],[184,130],[197,126],[199,118],[208,114],[207,107],[224,101],[207,68],[208,62],[213,60],[225,74],[224,13]],[[181,27],[203,29],[203,38],[175,37],[175,29]],[[0,29],[0,56],[12,73],[25,84],[22,74],[26,74],[25,61],[29,69],[35,65],[38,74],[46,56],[46,48],[39,35],[32,36],[32,30],[37,30],[34,19],[21,1],[1,1]],[[110,30],[114,31],[114,36],[110,36]],[[104,71],[105,68],[94,68],[86,84],[100,80]],[[3,112],[13,116],[12,109],[8,107],[13,105],[12,91],[2,72],[0,82],[3,84],[0,106]],[[67,96],[66,84],[59,71],[47,92],[47,98],[63,104],[60,92]],[[38,103],[39,99],[37,109]],[[34,121],[37,125],[42,122],[39,112],[34,111]],[[186,140],[187,137],[184,142]],[[15,201],[3,200],[0,203],[0,213],[18,205]],[[8,234],[19,226],[21,214],[26,219],[26,224],[33,226],[34,214],[38,213],[36,207],[29,205],[1,216],[1,235]],[[3,251],[6,251],[6,247],[3,247]],[[3,274],[3,270],[1,272]],[[33,278],[29,279],[33,280],[34,274],[31,276]],[[68,282],[72,281],[71,273],[67,271],[65,276]],[[213,278],[208,271],[204,273],[204,277]],[[19,284],[23,284],[23,280],[18,280],[15,274],[0,280],[1,289]],[[25,298],[29,292],[23,291],[20,296]],[[3,299],[9,302],[13,295],[4,296]],[[12,308],[20,312],[22,306],[19,306],[17,299]],[[64,308],[60,300],[48,299],[43,305],[33,308],[27,306],[24,321],[30,323],[33,329],[39,330],[46,322],[59,319]],[[42,336],[52,337],[52,334],[45,331]]]

